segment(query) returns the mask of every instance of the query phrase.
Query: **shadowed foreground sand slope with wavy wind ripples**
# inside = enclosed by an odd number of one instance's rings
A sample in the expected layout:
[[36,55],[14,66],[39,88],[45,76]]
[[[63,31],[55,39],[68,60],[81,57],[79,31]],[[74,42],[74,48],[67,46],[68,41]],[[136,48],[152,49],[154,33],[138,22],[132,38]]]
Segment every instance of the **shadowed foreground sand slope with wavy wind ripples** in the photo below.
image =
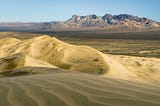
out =
[[[46,69],[47,70],[47,69]],[[160,86],[79,72],[0,79],[1,106],[159,106]]]

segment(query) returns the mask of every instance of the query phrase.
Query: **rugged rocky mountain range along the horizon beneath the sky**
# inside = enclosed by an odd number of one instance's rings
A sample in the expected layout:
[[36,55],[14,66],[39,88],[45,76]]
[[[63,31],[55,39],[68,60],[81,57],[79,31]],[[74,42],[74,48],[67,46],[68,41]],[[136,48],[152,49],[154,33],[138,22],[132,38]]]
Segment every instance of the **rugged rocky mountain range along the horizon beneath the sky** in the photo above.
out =
[[1,31],[146,30],[158,28],[160,28],[159,22],[129,14],[105,14],[104,16],[73,15],[64,22],[0,23]]

